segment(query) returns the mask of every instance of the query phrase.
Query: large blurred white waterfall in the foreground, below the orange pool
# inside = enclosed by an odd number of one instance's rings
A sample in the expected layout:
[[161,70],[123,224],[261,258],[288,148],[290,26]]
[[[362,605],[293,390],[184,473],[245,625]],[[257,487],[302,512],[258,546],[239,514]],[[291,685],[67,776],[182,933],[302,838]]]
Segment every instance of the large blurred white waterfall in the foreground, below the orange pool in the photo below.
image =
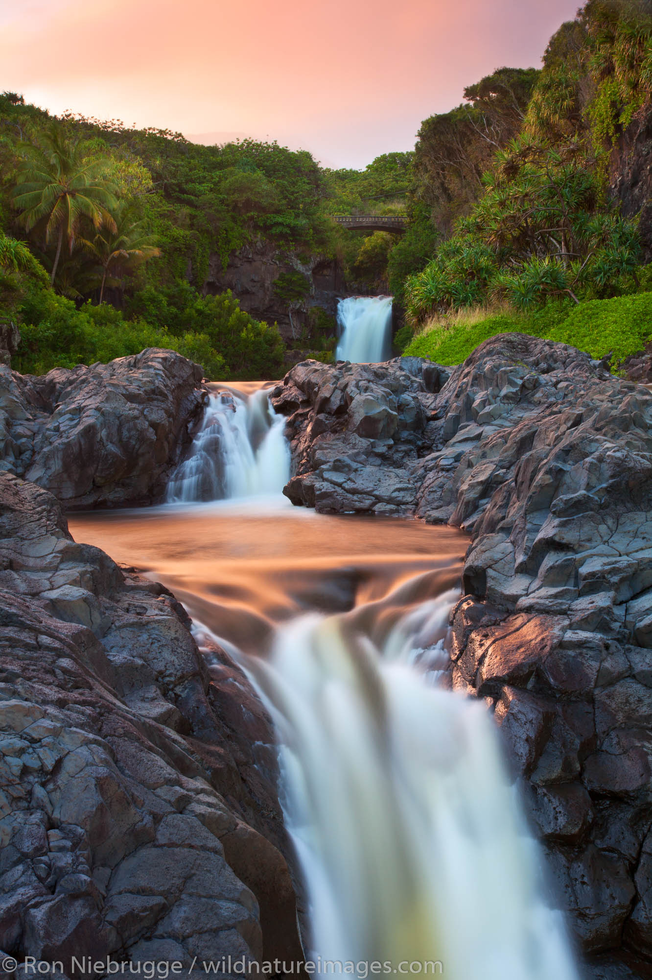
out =
[[306,955],[390,973],[441,963],[449,980],[577,980],[489,712],[435,683],[457,597],[414,605],[378,647],[369,606],[303,616],[268,661],[248,659],[281,745]]

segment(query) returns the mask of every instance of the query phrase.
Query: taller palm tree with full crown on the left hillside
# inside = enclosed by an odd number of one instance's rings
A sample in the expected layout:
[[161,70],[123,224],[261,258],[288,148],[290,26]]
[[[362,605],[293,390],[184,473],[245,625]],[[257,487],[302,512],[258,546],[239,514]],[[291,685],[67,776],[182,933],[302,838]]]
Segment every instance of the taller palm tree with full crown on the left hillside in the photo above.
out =
[[57,240],[53,285],[64,239],[71,253],[83,219],[98,230],[103,224],[116,227],[110,214],[116,208],[116,188],[104,177],[106,168],[103,158],[85,157],[79,141],[69,142],[56,125],[23,154],[14,203],[23,209],[21,221],[27,231],[44,222],[46,246]]

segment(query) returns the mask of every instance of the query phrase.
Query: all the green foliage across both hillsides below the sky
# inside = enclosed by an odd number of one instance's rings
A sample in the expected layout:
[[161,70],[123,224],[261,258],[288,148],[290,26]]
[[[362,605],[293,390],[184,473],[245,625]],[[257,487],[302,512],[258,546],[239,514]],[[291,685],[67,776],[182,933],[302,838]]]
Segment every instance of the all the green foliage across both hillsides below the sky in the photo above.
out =
[[[17,366],[156,344],[210,377],[278,374],[276,325],[228,292],[210,295],[234,253],[260,243],[286,269],[273,293],[291,314],[293,349],[328,359],[335,346],[332,319],[310,306],[306,271],[318,257],[340,263],[349,290],[395,296],[408,324],[397,346],[437,323],[411,352],[454,363],[498,329],[527,328],[617,364],[647,336],[636,318],[652,286],[608,174],[651,101],[649,0],[588,0],[550,39],[540,71],[497,69],[422,123],[414,153],[363,171],[321,169],[277,143],[208,147],[119,121],[52,118],[5,92],[0,317],[21,324]],[[409,219],[401,236],[331,220],[396,213]],[[499,313],[454,319],[479,306]]]

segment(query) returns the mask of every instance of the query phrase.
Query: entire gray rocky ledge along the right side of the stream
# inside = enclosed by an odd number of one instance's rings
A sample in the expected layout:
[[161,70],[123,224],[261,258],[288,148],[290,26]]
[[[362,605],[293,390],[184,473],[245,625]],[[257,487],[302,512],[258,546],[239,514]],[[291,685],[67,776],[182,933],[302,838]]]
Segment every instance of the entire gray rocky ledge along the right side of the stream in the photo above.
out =
[[272,400],[295,503],[469,531],[450,684],[494,711],[592,975],[652,975],[652,394],[512,333]]

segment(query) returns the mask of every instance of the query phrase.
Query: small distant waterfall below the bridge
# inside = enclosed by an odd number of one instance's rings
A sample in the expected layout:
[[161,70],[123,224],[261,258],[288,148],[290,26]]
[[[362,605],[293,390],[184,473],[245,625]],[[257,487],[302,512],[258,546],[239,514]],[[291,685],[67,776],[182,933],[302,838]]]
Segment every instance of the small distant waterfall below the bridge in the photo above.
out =
[[342,336],[338,361],[355,364],[387,361],[392,357],[392,297],[349,296],[338,303]]

